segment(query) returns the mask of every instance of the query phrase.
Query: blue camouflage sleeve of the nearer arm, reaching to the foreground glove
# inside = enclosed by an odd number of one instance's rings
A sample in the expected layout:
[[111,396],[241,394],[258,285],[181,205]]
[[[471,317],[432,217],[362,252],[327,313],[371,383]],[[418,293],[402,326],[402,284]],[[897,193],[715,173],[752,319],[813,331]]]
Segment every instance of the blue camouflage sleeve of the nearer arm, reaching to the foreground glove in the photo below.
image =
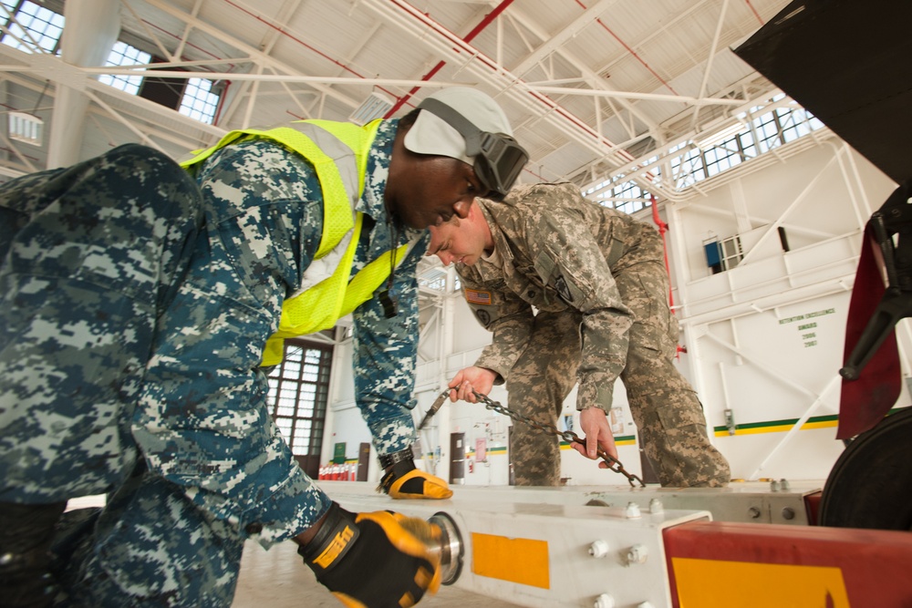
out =
[[133,436],[150,469],[268,546],[329,506],[275,427],[259,368],[319,242],[319,185],[303,159],[264,140],[223,149],[197,179],[208,233],[160,319]]

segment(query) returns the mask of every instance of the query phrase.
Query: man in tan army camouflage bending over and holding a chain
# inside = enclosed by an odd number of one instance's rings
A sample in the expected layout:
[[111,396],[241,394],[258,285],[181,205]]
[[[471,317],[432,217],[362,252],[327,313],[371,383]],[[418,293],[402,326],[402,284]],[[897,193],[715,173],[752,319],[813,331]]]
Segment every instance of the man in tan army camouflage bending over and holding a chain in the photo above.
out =
[[[574,448],[596,459],[601,446],[617,458],[606,415],[620,377],[663,486],[729,481],[700,401],[672,364],[678,327],[651,226],[561,183],[518,187],[503,202],[476,200],[466,218],[430,232],[428,254],[456,263],[466,302],[493,333],[475,365],[453,377],[454,401],[474,402],[472,390],[487,394],[506,381],[511,407],[555,424],[578,382],[586,447]],[[513,425],[516,484],[557,485],[559,449],[540,431]]]

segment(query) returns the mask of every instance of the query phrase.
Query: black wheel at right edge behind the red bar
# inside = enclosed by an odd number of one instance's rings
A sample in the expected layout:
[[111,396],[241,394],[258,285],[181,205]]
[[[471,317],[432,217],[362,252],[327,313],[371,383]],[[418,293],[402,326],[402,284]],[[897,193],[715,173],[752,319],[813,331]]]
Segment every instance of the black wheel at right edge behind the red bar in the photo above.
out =
[[912,407],[855,438],[824,484],[822,526],[912,530]]

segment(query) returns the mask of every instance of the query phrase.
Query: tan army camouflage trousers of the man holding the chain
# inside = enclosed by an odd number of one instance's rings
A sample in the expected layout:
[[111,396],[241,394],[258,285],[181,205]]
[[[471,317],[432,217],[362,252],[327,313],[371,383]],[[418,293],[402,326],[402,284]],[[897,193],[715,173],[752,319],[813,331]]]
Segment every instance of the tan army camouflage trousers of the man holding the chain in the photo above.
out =
[[[666,304],[664,265],[633,264],[614,278],[634,316],[627,366],[620,377],[642,449],[661,485],[684,488],[727,483],[728,461],[710,444],[700,401],[672,363],[678,329]],[[556,424],[576,383],[581,323],[582,315],[575,310],[539,311],[528,345],[507,379],[510,407]],[[557,438],[515,423],[510,450],[516,485],[558,485],[561,455]]]

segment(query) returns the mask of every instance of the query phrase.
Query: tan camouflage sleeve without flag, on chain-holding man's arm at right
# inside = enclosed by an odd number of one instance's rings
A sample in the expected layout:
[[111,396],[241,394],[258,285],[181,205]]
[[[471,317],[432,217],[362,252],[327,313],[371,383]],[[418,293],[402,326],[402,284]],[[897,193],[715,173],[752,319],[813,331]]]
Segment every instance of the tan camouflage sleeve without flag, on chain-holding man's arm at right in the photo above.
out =
[[576,408],[611,409],[614,384],[627,364],[633,321],[586,219],[573,209],[542,205],[531,213],[526,242],[535,271],[565,304],[583,314]]

